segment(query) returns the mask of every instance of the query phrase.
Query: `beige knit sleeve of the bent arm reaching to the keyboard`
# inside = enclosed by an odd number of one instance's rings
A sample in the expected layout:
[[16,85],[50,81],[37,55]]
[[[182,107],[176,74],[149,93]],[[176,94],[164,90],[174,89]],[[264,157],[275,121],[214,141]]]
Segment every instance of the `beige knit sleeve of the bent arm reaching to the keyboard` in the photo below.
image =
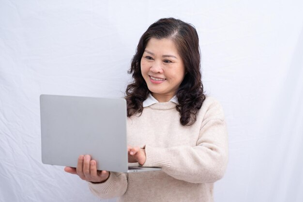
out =
[[221,179],[227,167],[227,127],[218,102],[206,110],[197,145],[158,148],[145,146],[144,167],[160,167],[168,175],[191,183],[212,183]]

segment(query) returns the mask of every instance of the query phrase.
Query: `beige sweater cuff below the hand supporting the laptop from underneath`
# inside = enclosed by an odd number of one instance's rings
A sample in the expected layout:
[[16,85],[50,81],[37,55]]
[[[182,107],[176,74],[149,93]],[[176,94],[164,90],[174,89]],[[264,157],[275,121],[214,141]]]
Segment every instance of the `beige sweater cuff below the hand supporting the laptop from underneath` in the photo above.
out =
[[118,180],[118,176],[115,172],[110,172],[109,177],[102,183],[89,183],[89,187],[93,193],[106,194],[114,189],[115,183]]

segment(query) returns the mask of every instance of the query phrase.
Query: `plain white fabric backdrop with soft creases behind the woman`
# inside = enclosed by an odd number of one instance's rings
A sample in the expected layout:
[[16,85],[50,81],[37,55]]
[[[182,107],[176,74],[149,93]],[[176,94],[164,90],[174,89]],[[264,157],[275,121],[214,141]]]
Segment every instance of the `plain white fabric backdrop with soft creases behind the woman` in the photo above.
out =
[[[216,202],[303,202],[302,0],[0,0],[0,202],[97,202],[41,163],[39,95],[122,96],[141,34],[197,28],[230,158]],[[115,200],[108,200],[115,201]]]

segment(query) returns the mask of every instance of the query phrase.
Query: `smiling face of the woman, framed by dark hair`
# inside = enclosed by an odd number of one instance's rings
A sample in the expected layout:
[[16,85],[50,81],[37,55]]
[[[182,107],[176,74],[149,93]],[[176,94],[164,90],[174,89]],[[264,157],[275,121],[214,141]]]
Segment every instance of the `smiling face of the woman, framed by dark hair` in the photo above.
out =
[[151,38],[141,58],[141,73],[152,96],[168,102],[185,76],[185,67],[171,39]]

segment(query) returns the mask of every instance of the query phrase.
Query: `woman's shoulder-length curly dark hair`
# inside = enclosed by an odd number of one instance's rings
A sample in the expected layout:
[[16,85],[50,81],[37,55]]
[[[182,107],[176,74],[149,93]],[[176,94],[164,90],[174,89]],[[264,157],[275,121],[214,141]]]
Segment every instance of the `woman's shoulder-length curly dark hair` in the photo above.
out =
[[185,67],[185,77],[180,84],[176,96],[179,104],[180,123],[192,125],[196,122],[196,114],[201,108],[205,95],[200,72],[199,39],[195,27],[180,19],[162,18],[153,23],[141,36],[136,54],[134,55],[129,74],[133,74],[133,82],[126,88],[127,116],[142,113],[143,101],[150,93],[141,74],[141,58],[148,41],[155,39],[171,39],[182,58]]

